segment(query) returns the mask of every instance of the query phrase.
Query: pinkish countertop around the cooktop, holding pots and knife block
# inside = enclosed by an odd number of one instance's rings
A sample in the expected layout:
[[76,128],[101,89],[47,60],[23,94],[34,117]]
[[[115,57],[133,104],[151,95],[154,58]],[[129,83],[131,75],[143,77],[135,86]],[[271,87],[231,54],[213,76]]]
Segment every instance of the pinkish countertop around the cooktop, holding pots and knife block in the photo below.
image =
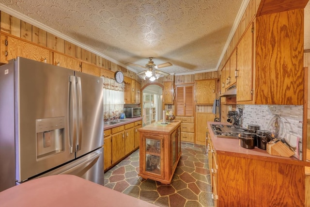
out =
[[242,157],[248,159],[260,159],[265,161],[274,161],[279,163],[289,163],[294,165],[310,166],[310,162],[300,161],[295,157],[282,157],[274,156],[267,153],[266,150],[255,147],[254,149],[246,149],[241,147],[239,144],[239,139],[230,139],[230,138],[216,138],[211,124],[226,124],[222,122],[208,122],[208,129],[212,143],[214,145],[217,154],[223,154],[233,157]]

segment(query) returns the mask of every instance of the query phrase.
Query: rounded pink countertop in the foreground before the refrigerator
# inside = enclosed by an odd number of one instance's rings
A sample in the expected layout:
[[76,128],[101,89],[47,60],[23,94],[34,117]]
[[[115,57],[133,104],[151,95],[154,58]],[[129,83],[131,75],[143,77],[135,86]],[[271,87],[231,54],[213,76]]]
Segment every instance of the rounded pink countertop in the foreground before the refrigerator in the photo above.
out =
[[51,175],[1,191],[0,206],[155,207],[76,175]]

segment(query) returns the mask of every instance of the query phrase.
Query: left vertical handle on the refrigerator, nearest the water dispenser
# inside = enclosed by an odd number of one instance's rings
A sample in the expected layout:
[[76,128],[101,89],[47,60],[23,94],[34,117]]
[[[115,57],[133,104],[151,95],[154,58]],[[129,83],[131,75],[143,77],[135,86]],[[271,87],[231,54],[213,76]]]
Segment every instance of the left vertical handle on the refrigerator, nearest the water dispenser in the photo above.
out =
[[70,76],[70,101],[72,103],[72,109],[69,107],[69,125],[70,125],[70,153],[76,152],[76,140],[77,140],[77,89],[76,89],[76,77]]

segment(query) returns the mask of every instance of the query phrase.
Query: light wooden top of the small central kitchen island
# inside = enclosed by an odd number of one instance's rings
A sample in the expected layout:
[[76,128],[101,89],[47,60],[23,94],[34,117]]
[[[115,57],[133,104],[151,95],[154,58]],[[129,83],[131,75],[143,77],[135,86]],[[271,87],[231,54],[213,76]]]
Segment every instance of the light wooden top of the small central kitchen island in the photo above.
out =
[[154,122],[153,124],[147,125],[145,127],[141,127],[138,129],[140,132],[154,132],[156,133],[170,133],[172,132],[182,121],[172,120],[171,122],[166,122],[167,124],[162,124],[162,120],[158,122]]

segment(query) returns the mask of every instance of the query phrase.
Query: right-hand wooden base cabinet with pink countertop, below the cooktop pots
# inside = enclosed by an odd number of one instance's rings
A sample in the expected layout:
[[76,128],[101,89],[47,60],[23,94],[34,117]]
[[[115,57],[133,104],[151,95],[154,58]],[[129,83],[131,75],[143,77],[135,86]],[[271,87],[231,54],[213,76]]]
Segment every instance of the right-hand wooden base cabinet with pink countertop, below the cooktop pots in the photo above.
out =
[[227,123],[208,122],[206,148],[215,207],[309,205],[305,199],[309,162],[243,148],[239,139],[216,137],[211,124]]

